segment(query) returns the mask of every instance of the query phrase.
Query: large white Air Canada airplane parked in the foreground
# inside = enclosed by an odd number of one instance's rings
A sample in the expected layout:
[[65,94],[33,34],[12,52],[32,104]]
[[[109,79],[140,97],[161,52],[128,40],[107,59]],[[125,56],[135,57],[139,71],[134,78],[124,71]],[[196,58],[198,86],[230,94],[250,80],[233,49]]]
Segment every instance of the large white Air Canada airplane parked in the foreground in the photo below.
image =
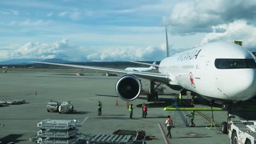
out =
[[[166,45],[168,49],[167,41]],[[256,57],[246,48],[228,42],[208,43],[176,53],[162,59],[159,65],[142,63],[158,67],[159,73],[86,65],[33,63],[123,73],[115,85],[115,90],[117,95],[126,101],[139,97],[142,91],[139,78],[164,83],[176,91],[190,91],[219,104],[245,101],[256,95]]]

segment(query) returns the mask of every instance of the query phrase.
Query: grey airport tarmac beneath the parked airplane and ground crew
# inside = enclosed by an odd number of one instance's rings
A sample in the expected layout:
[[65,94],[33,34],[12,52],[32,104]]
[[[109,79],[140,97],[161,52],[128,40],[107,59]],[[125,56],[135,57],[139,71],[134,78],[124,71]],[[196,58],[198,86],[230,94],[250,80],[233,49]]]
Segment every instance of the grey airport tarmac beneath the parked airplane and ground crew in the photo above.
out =
[[[75,73],[84,76],[75,76]],[[155,136],[157,140],[147,140],[146,143],[229,143],[228,135],[210,127],[211,122],[195,113],[196,127],[176,126],[171,129],[172,139],[166,139],[167,128],[164,123],[166,116],[174,118],[174,111],[164,111],[170,105],[170,95],[159,96],[159,102],[148,102],[145,95],[130,101],[133,104],[133,119],[129,118],[126,109],[127,102],[117,97],[115,83],[119,76],[103,76],[104,73],[86,70],[47,70],[47,69],[15,69],[0,73],[0,100],[25,99],[25,104],[0,107],[0,141],[2,143],[34,143],[30,136],[35,135],[39,128],[37,123],[43,119],[76,119],[80,122],[90,115],[87,121],[79,127],[84,134],[112,134],[119,129],[146,131],[147,136]],[[147,86],[145,86],[147,87]],[[167,91],[167,90],[166,90]],[[37,93],[37,95],[35,95]],[[71,100],[74,112],[59,114],[47,112],[46,104],[50,99],[56,101]],[[115,101],[118,100],[118,105]],[[98,101],[102,102],[102,116],[97,116]],[[142,118],[141,105],[146,103],[148,117]],[[195,107],[208,107],[195,105]],[[201,111],[205,116],[212,117],[211,111]],[[189,112],[190,113],[190,112]],[[214,111],[216,123],[226,121],[227,112]],[[175,119],[176,124],[182,124],[181,118]],[[162,129],[161,129],[162,127]]]

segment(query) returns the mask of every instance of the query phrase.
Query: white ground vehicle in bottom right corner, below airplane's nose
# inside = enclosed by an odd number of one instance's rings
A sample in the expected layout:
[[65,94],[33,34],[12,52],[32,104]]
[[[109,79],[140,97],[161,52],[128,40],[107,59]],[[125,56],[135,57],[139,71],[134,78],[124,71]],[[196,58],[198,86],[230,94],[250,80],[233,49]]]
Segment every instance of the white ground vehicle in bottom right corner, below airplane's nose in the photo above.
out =
[[256,121],[230,121],[228,137],[231,144],[256,143]]

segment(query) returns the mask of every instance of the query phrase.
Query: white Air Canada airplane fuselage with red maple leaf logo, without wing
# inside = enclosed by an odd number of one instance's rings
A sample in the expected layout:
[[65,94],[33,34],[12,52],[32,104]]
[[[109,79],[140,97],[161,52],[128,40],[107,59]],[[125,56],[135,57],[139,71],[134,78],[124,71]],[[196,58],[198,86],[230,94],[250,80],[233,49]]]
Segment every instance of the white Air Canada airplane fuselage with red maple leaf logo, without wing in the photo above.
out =
[[255,56],[232,43],[210,43],[177,53],[161,61],[159,72],[170,75],[170,85],[208,100],[240,101],[256,95]]

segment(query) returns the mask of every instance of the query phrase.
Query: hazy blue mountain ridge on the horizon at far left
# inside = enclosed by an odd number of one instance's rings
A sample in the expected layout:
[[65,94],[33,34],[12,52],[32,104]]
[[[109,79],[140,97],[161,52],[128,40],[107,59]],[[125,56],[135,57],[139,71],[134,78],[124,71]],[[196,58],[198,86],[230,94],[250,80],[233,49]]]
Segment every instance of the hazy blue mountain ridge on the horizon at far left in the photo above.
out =
[[0,62],[0,65],[7,64],[7,65],[12,65],[12,64],[20,64],[20,65],[25,65],[25,64],[32,64],[31,61],[36,61],[36,62],[48,62],[48,63],[72,63],[71,61],[65,61],[59,58],[51,58],[51,59],[10,59],[8,61],[3,61]]

